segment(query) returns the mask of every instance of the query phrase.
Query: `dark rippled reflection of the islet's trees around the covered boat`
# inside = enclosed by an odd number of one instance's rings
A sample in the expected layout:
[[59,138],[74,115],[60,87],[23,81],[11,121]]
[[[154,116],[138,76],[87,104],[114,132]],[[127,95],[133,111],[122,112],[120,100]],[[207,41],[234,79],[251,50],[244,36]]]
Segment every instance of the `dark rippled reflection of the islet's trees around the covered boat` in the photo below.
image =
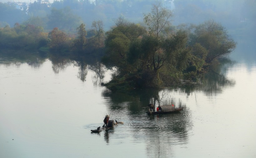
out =
[[[135,90],[133,92],[112,93],[106,90],[104,97],[110,98],[109,111],[114,111],[113,117],[121,117],[127,124],[132,137],[136,141],[146,141],[148,157],[168,157],[173,151],[171,145],[188,142],[188,132],[192,128],[189,111],[166,115],[145,115],[149,102],[160,98],[168,100],[167,92],[157,89]],[[165,95],[166,94],[166,95]],[[169,93],[170,96],[170,93]],[[175,100],[171,98],[171,100]],[[142,110],[144,109],[144,110]],[[138,140],[140,139],[140,140]]]

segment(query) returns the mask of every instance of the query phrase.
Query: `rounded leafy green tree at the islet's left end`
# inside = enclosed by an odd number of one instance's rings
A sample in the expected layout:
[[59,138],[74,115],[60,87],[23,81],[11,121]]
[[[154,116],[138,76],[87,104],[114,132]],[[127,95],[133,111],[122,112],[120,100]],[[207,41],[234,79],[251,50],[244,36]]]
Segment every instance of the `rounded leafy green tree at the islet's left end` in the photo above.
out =
[[116,24],[116,27],[112,27],[111,30],[106,32],[105,59],[108,59],[108,65],[118,67],[121,74],[136,71],[131,67],[134,67],[135,60],[139,60],[139,58],[135,58],[139,56],[140,52],[134,51],[132,47],[135,46],[135,41],[140,43],[146,29],[134,23],[122,22]]

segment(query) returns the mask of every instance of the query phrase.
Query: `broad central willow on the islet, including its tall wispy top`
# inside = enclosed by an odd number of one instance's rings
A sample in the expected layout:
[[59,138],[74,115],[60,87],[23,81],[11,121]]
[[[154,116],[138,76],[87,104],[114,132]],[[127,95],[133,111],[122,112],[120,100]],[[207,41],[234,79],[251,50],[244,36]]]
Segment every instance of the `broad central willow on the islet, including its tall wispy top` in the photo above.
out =
[[179,82],[183,70],[189,65],[191,49],[187,47],[188,35],[185,31],[175,33],[170,29],[172,16],[172,11],[160,4],[154,5],[151,12],[144,15],[149,32],[143,41],[143,62],[147,68],[144,78],[149,79],[148,85]]

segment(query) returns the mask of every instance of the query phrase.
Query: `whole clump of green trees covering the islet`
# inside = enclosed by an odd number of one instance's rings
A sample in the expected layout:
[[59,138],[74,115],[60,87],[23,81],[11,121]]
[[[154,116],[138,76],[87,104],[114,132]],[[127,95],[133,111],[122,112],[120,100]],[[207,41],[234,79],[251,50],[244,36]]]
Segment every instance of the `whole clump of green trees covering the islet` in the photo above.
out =
[[123,18],[115,21],[116,27],[106,32],[104,56],[104,62],[117,69],[111,88],[124,83],[135,88],[168,86],[181,79],[191,82],[206,64],[233,51],[236,43],[220,24],[206,21],[175,30],[171,16],[158,4],[144,15],[148,30]]

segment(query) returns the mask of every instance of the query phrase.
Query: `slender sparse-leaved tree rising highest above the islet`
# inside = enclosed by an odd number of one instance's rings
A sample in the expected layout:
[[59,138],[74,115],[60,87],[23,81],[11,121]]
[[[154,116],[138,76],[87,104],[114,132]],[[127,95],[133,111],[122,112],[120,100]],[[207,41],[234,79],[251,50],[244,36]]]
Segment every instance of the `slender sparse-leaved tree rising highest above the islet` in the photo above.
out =
[[147,68],[152,65],[155,72],[165,64],[168,53],[170,53],[164,50],[163,46],[171,25],[171,17],[172,11],[161,7],[160,3],[154,5],[150,13],[144,15],[144,22],[149,30],[145,41],[145,44],[149,46],[145,51],[147,57],[145,65]]

